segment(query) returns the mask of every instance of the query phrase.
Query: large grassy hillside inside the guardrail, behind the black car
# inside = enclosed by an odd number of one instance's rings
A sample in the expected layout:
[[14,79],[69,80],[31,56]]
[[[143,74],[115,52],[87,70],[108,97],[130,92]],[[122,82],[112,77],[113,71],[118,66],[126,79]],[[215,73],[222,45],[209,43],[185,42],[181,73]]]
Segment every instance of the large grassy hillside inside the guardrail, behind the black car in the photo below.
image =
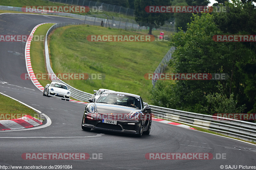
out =
[[84,92],[106,88],[138,94],[149,102],[152,83],[144,74],[155,71],[169,50],[168,42],[89,42],[86,37],[91,34],[139,33],[88,25],[58,28],[51,35],[49,46],[53,71],[102,73],[103,80],[65,82]]

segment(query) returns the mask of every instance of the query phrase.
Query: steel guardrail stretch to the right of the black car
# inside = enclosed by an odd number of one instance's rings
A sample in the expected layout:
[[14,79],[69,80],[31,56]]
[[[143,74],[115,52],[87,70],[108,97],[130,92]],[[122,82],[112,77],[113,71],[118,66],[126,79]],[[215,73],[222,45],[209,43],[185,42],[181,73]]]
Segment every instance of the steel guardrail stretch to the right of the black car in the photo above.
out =
[[[256,141],[256,123],[235,119],[225,119],[165,107],[153,106],[152,113],[157,117],[187,123],[204,129],[209,129],[227,136],[237,137],[247,141]],[[175,115],[175,116],[174,116]],[[218,119],[221,118],[221,119]]]

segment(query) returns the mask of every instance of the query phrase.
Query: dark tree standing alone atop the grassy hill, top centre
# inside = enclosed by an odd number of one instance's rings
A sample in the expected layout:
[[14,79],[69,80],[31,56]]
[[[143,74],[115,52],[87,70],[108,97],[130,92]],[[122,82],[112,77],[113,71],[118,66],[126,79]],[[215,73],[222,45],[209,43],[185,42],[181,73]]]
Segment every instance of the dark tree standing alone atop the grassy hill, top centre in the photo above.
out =
[[169,5],[169,3],[169,0],[135,0],[135,20],[139,22],[141,26],[148,26],[148,34],[151,35],[152,28],[164,25],[164,21],[169,18],[169,15],[168,13],[148,13],[145,11],[145,7]]

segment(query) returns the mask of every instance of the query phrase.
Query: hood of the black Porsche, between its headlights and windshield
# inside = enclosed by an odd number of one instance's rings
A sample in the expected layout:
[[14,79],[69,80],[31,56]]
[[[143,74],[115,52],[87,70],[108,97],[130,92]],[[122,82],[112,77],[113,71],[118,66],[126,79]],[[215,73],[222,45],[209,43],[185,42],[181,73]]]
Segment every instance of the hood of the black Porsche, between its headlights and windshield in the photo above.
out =
[[134,110],[138,110],[138,109],[132,108],[132,107],[104,104],[104,103],[95,103],[95,106],[96,106],[96,110],[99,114],[108,114],[108,113],[129,114]]

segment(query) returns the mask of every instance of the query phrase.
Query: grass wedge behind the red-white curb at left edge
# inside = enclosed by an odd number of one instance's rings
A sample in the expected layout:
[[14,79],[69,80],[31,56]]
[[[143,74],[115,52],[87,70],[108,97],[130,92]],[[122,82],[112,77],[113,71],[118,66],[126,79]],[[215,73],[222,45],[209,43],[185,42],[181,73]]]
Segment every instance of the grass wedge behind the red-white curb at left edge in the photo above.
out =
[[31,115],[32,117],[37,117],[38,115],[33,109],[19,103],[18,101],[15,101],[9,97],[6,97],[2,94],[0,94],[0,101],[1,101],[0,114],[6,114],[6,113],[22,114],[22,115],[26,114],[26,115]]

